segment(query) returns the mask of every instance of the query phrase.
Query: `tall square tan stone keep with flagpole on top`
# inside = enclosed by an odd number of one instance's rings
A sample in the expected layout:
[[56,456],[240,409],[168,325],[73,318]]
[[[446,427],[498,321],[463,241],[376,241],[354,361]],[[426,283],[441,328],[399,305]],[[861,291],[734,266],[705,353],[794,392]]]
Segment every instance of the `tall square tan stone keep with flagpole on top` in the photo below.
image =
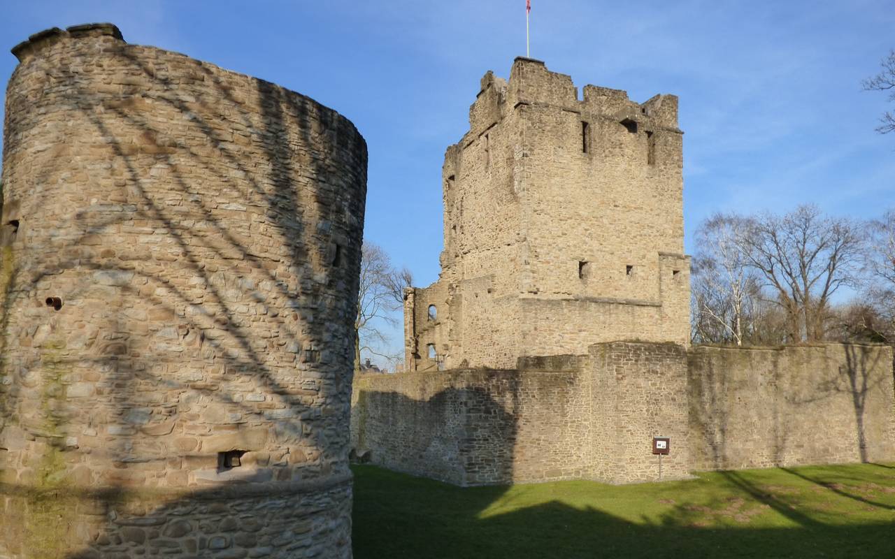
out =
[[412,370],[508,368],[689,341],[678,97],[643,104],[540,61],[491,72],[447,148],[439,281],[405,293]]

